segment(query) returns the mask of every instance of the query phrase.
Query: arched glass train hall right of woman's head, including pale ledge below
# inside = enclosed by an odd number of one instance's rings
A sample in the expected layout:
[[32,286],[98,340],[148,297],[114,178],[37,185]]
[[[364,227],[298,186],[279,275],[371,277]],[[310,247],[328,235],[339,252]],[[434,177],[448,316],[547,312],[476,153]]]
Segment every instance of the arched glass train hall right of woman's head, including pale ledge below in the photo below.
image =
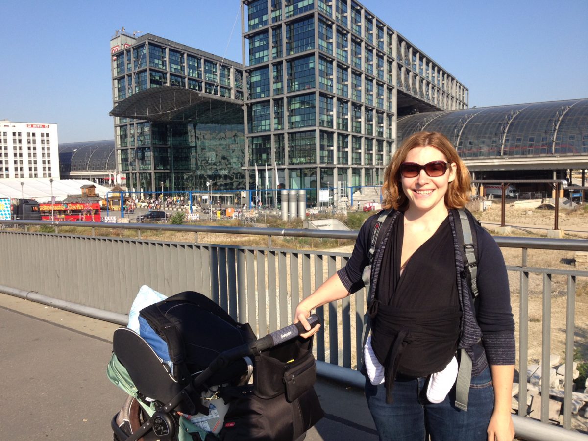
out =
[[588,169],[588,99],[424,112],[398,119],[398,138],[445,133],[476,179],[566,179]]

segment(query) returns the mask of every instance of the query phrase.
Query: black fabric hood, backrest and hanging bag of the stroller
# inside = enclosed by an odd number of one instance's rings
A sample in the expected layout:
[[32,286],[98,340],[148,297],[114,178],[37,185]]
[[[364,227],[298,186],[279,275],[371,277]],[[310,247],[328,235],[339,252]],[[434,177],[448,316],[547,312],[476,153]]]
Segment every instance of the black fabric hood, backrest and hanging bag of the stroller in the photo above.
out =
[[[149,417],[151,413],[146,414],[145,406],[159,411],[179,393],[183,395],[181,403],[163,415],[173,418],[174,434],[158,439],[177,441],[188,436],[192,440],[205,438],[205,441],[297,441],[324,416],[313,389],[316,364],[312,338],[295,338],[252,354],[252,385],[243,385],[242,376],[248,372],[248,367],[245,360],[239,359],[195,390],[197,383],[192,383],[192,379],[197,382],[198,373],[208,368],[219,353],[256,339],[249,324],[235,322],[212,300],[193,291],[143,308],[140,315],[168,346],[173,375],[141,336],[128,328],[115,331],[114,356],[136,386],[135,402],[141,402],[143,407],[142,411],[132,412],[132,402],[125,403],[128,409],[123,407],[113,419],[115,439],[122,441],[126,439],[123,435],[131,436],[141,423],[139,420],[156,423],[157,412]],[[208,415],[208,407],[202,405],[202,392],[216,386],[218,399],[228,405],[220,432],[216,435],[203,430],[185,433],[179,429],[185,420],[178,416],[178,411],[188,414],[188,418],[196,414]],[[156,401],[152,402],[153,399]],[[131,419],[135,415],[138,416]],[[146,433],[145,441],[157,438],[153,438],[155,426],[152,424],[153,429]]]

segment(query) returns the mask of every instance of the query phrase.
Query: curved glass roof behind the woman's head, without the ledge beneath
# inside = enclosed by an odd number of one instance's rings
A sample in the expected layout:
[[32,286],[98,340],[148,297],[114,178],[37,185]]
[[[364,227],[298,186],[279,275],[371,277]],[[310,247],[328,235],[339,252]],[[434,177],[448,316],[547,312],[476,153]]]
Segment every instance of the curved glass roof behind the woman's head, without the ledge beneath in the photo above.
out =
[[444,133],[462,158],[588,154],[588,99],[427,112],[398,119],[399,142]]

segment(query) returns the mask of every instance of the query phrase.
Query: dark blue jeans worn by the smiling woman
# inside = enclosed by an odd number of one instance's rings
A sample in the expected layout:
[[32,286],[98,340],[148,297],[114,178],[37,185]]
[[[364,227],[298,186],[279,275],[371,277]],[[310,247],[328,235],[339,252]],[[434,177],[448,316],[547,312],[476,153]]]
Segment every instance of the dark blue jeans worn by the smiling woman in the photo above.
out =
[[381,441],[486,441],[486,429],[494,409],[490,368],[472,377],[467,412],[455,407],[455,385],[443,402],[426,398],[427,377],[397,376],[392,404],[386,404],[383,384],[366,379],[365,393]]

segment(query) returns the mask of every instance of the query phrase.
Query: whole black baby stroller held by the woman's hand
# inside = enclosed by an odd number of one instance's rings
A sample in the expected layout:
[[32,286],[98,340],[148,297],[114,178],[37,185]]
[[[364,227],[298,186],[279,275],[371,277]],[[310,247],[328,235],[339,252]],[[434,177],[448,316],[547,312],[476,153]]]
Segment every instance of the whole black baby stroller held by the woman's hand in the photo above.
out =
[[113,335],[107,374],[129,395],[115,441],[299,441],[324,416],[300,323],[256,339],[193,291],[143,308],[139,323]]

